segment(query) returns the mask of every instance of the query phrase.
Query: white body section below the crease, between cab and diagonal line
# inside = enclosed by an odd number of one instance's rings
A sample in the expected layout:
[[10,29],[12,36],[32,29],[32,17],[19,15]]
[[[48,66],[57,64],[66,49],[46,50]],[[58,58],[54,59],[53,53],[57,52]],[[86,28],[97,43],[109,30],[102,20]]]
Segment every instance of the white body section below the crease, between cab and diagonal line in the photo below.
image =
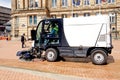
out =
[[[97,27],[96,27],[97,26]],[[95,46],[101,24],[65,26],[65,36],[70,46]]]

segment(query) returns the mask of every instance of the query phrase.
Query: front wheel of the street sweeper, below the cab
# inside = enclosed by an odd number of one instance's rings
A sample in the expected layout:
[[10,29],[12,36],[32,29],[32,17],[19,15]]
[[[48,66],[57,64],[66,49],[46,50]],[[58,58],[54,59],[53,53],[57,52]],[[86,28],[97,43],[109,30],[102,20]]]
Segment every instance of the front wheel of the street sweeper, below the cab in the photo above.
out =
[[55,62],[58,58],[58,53],[54,48],[48,48],[45,53],[46,60],[49,62]]

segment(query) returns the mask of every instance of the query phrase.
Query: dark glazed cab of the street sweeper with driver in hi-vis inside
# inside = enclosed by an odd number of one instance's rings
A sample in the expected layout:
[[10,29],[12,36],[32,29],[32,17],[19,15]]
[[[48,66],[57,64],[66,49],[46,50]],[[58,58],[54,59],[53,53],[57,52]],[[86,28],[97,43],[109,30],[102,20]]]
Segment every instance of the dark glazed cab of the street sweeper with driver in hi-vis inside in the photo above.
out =
[[50,46],[60,46],[61,26],[61,19],[47,19],[40,21],[36,29],[34,46],[42,49],[46,49]]

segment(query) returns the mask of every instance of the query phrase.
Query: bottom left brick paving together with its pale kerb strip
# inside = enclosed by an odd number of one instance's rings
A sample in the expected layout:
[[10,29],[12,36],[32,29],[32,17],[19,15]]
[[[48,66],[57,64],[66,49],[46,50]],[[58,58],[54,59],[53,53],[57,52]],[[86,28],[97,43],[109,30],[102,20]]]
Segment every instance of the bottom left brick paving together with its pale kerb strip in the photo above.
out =
[[92,80],[92,79],[0,66],[0,80]]

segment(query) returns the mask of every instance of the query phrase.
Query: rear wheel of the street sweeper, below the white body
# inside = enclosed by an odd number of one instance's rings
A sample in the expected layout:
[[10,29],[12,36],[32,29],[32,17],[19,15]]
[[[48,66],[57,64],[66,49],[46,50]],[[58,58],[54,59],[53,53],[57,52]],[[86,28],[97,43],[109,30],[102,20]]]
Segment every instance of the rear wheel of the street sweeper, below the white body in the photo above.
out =
[[107,53],[104,49],[94,49],[91,52],[91,60],[93,64],[104,65],[107,63]]

